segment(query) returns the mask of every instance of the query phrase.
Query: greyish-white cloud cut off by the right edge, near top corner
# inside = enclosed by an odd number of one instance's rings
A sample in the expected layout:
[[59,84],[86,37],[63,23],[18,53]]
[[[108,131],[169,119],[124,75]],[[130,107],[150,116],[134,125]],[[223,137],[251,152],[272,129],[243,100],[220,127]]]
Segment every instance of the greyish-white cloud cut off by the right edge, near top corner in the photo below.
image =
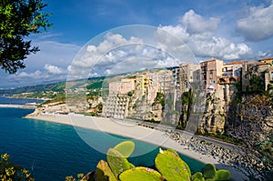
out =
[[237,21],[238,32],[249,41],[260,41],[273,35],[273,4],[249,7],[248,14]]

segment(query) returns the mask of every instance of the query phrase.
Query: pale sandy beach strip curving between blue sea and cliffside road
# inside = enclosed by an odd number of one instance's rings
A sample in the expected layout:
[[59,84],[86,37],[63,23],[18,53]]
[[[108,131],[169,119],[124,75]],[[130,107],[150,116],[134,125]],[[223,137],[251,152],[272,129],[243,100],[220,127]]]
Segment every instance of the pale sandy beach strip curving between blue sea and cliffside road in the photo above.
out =
[[[179,154],[193,158],[198,162],[204,164],[214,164],[217,169],[225,168],[231,173],[232,180],[243,180],[245,175],[239,172],[234,166],[228,166],[222,164],[223,161],[217,156],[203,155],[191,149],[190,146],[182,145],[177,142],[171,135],[167,135],[167,132],[159,131],[157,129],[151,129],[145,126],[138,126],[137,123],[111,119],[106,117],[95,116],[81,116],[75,114],[69,115],[39,115],[39,116],[25,116],[25,118],[41,120],[46,122],[52,122],[57,124],[63,124],[68,126],[82,127],[99,132],[106,132],[116,136],[125,136],[128,138],[136,139],[155,146],[163,146],[166,148],[173,148],[177,150]],[[76,119],[76,120],[75,120]],[[184,136],[185,140],[190,136]]]

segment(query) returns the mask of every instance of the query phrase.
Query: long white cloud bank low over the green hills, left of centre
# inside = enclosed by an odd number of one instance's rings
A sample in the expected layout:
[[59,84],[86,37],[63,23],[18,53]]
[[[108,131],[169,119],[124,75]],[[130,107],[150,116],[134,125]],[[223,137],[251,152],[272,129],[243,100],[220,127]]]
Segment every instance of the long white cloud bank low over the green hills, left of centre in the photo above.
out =
[[83,48],[76,56],[69,66],[68,79],[87,75],[118,74],[118,71],[127,72],[136,67],[136,64],[132,66],[132,62],[130,64],[123,62],[135,57],[156,55],[149,48],[144,51],[145,48],[143,40],[139,37],[132,35],[125,38],[120,34],[107,33],[97,45],[86,45],[86,49]]

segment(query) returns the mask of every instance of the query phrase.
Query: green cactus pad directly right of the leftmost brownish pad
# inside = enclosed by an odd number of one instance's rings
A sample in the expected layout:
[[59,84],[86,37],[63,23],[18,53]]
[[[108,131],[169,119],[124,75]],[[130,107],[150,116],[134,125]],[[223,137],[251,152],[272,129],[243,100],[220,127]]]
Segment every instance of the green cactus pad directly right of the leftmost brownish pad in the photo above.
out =
[[122,156],[116,149],[109,148],[107,151],[107,162],[110,166],[113,174],[118,178],[118,175],[122,172],[130,169],[133,166],[131,163],[128,162],[126,157]]

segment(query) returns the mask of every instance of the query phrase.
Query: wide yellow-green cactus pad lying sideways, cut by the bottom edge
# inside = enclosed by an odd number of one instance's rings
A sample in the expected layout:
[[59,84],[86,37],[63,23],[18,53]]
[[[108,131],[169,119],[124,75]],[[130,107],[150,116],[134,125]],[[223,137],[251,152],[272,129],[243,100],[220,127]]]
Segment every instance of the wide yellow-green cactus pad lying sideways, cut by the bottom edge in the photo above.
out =
[[121,181],[162,181],[164,177],[156,170],[147,167],[135,167],[128,169],[119,175]]

